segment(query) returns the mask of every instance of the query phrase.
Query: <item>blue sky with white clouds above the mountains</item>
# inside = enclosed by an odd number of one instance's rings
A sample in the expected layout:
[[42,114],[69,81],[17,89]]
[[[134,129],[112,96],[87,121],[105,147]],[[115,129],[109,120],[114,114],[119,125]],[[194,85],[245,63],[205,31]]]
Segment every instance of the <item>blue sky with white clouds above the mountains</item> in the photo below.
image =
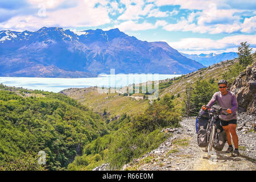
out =
[[0,30],[120,31],[164,41],[189,54],[256,51],[256,1],[251,0],[0,0]]

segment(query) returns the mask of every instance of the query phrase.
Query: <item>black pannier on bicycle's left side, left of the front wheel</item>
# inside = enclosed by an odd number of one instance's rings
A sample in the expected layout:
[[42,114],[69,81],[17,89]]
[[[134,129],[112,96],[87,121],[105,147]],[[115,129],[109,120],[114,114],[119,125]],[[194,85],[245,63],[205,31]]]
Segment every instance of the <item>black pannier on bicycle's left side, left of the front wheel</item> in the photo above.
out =
[[199,124],[199,131],[197,133],[197,144],[199,147],[206,147],[207,146],[207,124],[209,119],[208,112],[204,110],[199,111],[198,115],[198,124]]

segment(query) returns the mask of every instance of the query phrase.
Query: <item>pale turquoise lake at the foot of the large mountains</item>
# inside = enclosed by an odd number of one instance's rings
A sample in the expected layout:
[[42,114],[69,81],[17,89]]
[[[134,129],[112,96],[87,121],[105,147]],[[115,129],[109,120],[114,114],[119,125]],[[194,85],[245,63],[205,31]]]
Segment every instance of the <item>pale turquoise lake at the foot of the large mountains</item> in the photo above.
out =
[[60,92],[67,88],[85,88],[89,86],[116,86],[139,84],[146,81],[164,80],[181,75],[158,74],[118,74],[101,75],[93,78],[41,78],[41,77],[0,77],[0,83],[7,86],[17,86],[26,89]]

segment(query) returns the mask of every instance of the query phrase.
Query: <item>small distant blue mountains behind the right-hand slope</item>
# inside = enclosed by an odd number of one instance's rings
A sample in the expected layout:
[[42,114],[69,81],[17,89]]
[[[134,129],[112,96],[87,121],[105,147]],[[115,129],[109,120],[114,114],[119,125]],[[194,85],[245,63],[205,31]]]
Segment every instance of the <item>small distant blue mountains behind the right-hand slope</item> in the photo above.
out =
[[219,63],[221,61],[226,61],[226,60],[232,60],[236,57],[238,57],[236,52],[224,52],[224,53],[209,53],[209,54],[204,54],[201,53],[200,55],[189,55],[186,53],[181,53],[183,56],[188,57],[189,59],[198,61],[199,63],[205,65],[205,66],[209,66],[212,64],[216,64]]

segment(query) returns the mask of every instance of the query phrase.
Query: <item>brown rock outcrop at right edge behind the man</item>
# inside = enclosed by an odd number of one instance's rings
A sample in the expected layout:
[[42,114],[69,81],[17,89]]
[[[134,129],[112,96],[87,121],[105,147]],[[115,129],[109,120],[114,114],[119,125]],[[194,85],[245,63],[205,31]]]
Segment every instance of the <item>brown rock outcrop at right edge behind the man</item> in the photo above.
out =
[[237,96],[238,113],[255,114],[256,110],[256,61],[248,66],[230,88]]

